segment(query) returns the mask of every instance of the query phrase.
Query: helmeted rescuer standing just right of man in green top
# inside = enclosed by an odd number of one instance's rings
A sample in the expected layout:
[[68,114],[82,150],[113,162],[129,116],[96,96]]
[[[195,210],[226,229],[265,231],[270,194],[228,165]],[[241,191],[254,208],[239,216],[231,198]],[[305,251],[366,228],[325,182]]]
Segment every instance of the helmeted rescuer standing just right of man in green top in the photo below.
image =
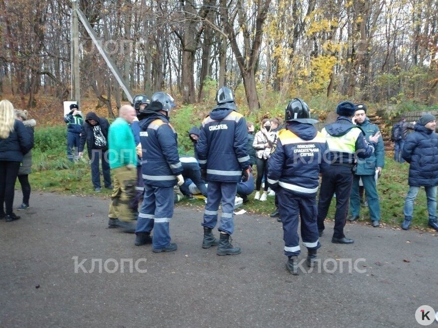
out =
[[173,216],[173,187],[181,186],[182,165],[178,155],[177,135],[169,123],[173,99],[166,93],[152,95],[151,103],[140,110],[140,141],[142,143],[142,173],[145,196],[135,229],[135,245],[151,243],[152,251],[171,252],[177,245],[171,243],[169,222]]

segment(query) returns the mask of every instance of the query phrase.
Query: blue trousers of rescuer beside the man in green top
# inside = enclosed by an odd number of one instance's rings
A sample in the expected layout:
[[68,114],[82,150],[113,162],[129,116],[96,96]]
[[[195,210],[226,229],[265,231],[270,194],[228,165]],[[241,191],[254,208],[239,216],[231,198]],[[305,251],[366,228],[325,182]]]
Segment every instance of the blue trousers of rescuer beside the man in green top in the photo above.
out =
[[145,184],[145,197],[139,213],[135,232],[151,232],[153,248],[170,244],[169,222],[173,216],[173,187],[155,187]]

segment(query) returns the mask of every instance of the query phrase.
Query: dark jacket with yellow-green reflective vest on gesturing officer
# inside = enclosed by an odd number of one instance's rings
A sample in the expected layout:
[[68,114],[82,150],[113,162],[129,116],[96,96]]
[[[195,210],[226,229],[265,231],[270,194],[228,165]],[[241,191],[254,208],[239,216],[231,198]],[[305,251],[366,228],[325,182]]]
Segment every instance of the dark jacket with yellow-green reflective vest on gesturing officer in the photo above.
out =
[[[354,154],[359,158],[368,158],[374,152],[374,146],[367,142],[365,133],[352,124],[349,117],[339,116],[336,122],[322,129],[322,134],[326,135],[329,144],[330,156],[327,159],[331,163],[353,164]],[[338,143],[343,144],[345,151],[339,150]]]

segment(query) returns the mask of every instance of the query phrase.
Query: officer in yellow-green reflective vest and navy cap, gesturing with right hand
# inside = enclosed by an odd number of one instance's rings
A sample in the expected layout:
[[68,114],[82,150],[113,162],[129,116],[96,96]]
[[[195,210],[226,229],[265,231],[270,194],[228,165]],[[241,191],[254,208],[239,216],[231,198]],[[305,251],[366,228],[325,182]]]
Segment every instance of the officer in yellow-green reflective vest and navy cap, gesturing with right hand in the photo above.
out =
[[[322,171],[318,201],[318,230],[321,236],[330,202],[336,193],[335,228],[332,237],[332,243],[335,244],[353,243],[353,240],[345,237],[344,226],[355,170],[355,156],[364,159],[374,152],[374,146],[367,142],[362,129],[351,122],[354,111],[353,103],[349,101],[340,103],[336,108],[336,113],[339,115],[336,122],[326,125],[321,131],[329,144],[330,153],[326,160],[331,165]],[[380,132],[371,136],[369,141],[375,144],[379,136]]]

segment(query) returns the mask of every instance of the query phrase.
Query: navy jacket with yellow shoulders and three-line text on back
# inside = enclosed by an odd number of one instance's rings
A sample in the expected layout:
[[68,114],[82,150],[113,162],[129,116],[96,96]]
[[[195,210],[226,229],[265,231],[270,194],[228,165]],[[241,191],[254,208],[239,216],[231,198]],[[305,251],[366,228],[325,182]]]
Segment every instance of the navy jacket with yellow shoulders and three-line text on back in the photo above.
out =
[[278,133],[268,160],[268,183],[295,194],[314,197],[318,191],[319,172],[329,146],[322,133],[311,124],[291,122]]

